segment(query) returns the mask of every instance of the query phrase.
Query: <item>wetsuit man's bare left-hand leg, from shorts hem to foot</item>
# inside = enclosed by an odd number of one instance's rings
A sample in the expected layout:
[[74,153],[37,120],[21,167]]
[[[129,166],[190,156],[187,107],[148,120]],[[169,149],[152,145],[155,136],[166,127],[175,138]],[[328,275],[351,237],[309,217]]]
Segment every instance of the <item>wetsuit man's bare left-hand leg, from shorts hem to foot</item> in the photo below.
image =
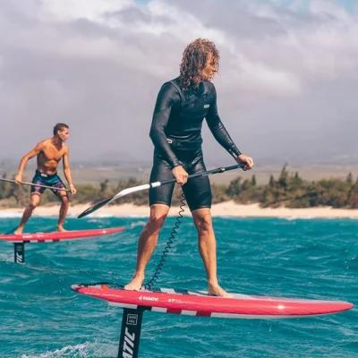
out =
[[150,260],[151,254],[158,243],[158,234],[166,221],[169,207],[164,204],[154,204],[150,206],[149,221],[141,230],[138,241],[137,267],[132,281],[124,286],[126,290],[140,290],[144,280],[144,271]]

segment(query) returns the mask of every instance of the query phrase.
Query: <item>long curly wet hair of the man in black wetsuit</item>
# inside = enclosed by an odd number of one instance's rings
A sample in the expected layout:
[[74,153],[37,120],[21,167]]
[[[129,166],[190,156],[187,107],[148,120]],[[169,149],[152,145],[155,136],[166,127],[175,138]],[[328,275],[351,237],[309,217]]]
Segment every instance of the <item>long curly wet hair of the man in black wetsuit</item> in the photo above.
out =
[[199,87],[202,81],[201,72],[208,63],[209,55],[212,55],[218,70],[220,55],[214,42],[197,38],[184,49],[180,64],[180,85],[183,90],[195,90]]

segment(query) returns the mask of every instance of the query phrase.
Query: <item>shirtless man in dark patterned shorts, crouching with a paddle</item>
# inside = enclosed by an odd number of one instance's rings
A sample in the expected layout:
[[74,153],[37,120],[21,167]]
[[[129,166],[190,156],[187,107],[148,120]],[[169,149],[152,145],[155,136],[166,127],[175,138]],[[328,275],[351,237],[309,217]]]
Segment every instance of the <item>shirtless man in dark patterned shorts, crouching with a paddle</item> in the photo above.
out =
[[[39,185],[47,185],[58,188],[59,190],[52,190],[55,195],[61,200],[60,217],[58,218],[57,231],[64,230],[64,218],[67,215],[69,200],[65,186],[61,178],[57,175],[57,166],[59,161],[64,158],[64,176],[70,185],[70,192],[72,195],[76,193],[76,189],[72,184],[71,169],[69,165],[69,149],[64,143],[69,136],[69,127],[67,124],[56,124],[54,127],[54,136],[51,139],[40,141],[35,149],[21,158],[19,172],[15,177],[15,183],[20,184],[22,181],[22,173],[25,170],[28,160],[37,156],[38,168],[36,174],[32,179],[32,183]],[[60,190],[64,189],[64,190]],[[22,234],[26,222],[29,220],[32,211],[38,206],[41,194],[45,192],[45,188],[41,186],[31,187],[30,204],[25,209],[21,218],[20,226],[16,229],[14,234]]]

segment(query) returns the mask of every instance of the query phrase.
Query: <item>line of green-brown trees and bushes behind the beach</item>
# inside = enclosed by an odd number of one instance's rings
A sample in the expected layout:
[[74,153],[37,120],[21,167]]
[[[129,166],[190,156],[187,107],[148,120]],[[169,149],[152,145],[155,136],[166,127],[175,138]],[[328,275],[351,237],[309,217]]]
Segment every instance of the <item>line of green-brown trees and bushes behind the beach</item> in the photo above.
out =
[[[3,175],[4,178],[7,175]],[[76,186],[77,194],[72,197],[72,205],[94,203],[107,199],[142,182],[134,178],[109,183],[105,180],[99,185],[80,184]],[[259,203],[262,208],[312,208],[329,206],[337,209],[358,209],[358,178],[354,180],[350,173],[345,179],[321,179],[308,181],[298,172],[289,173],[283,166],[275,178],[270,176],[267,184],[257,184],[255,175],[250,179],[237,176],[226,185],[212,184],[213,203],[234,200],[241,204]],[[28,204],[30,187],[0,181],[0,208],[23,207]],[[175,186],[173,204],[180,205],[182,191]],[[51,205],[57,201],[55,195],[47,190],[41,197],[41,204]],[[148,192],[134,192],[116,200],[113,204],[133,203],[148,205]]]

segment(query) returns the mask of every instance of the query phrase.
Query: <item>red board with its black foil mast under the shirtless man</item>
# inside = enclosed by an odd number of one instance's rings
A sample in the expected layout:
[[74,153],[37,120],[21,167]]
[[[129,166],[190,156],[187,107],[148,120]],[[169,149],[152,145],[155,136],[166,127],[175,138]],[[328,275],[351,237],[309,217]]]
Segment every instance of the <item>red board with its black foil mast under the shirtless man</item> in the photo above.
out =
[[14,244],[14,260],[16,263],[25,262],[25,243],[54,243],[62,240],[86,239],[88,237],[115,234],[123,231],[124,227],[111,227],[106,229],[75,230],[52,233],[34,234],[1,234],[0,240]]

